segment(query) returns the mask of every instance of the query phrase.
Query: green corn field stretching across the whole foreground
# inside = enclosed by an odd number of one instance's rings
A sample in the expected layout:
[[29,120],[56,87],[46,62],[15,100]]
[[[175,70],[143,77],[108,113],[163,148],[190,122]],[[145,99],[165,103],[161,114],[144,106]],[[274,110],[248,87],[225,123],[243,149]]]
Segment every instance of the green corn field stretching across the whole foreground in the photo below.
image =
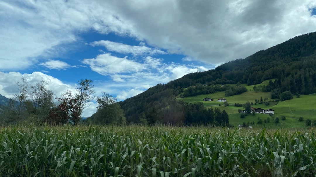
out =
[[316,176],[315,130],[0,129],[1,176]]

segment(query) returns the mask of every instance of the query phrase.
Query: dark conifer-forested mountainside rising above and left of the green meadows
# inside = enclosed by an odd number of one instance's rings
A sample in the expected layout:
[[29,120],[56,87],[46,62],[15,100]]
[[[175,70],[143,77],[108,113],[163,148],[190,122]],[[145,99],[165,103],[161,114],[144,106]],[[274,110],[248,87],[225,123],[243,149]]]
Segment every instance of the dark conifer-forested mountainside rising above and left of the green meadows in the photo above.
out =
[[[197,113],[203,105],[176,102],[175,97],[184,88],[196,85],[216,84],[254,85],[264,80],[270,82],[262,91],[276,95],[284,91],[293,94],[316,92],[316,32],[297,36],[274,47],[261,50],[245,59],[222,64],[216,69],[190,73],[167,84],[158,84],[143,93],[119,102],[125,111],[127,122],[149,120],[155,115],[162,122],[203,123],[205,113]],[[221,88],[214,88],[221,89]],[[228,89],[228,88],[223,88]],[[225,91],[225,90],[221,90]],[[187,111],[188,109],[191,109]],[[195,116],[190,114],[197,113]],[[196,112],[197,111],[197,112]],[[191,120],[191,119],[197,119]]]

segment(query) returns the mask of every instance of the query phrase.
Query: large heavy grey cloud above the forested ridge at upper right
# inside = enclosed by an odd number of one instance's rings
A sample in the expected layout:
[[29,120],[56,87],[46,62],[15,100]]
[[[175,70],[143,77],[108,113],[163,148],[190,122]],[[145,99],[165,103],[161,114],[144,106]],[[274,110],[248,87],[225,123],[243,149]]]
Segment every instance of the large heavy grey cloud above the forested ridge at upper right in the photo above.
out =
[[111,3],[150,45],[209,64],[245,58],[316,29],[312,0]]

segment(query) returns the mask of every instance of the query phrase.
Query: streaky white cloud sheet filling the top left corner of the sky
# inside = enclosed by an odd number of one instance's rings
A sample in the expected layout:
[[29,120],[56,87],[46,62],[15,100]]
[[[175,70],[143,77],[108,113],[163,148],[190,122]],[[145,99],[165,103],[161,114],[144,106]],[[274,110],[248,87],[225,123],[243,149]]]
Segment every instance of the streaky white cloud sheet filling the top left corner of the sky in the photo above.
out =
[[135,36],[130,24],[97,1],[0,2],[0,69],[25,69],[39,60],[66,52],[77,45],[77,34],[87,30]]

